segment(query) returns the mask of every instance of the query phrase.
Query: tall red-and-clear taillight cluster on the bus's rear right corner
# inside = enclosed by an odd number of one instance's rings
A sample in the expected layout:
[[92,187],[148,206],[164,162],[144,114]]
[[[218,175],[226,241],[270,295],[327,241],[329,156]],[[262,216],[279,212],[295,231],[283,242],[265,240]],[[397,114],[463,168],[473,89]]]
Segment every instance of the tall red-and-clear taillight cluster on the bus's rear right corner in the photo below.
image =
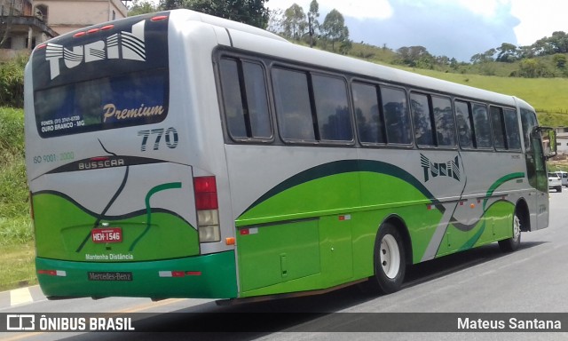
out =
[[200,242],[219,242],[219,203],[217,202],[217,181],[215,177],[193,178],[197,230]]

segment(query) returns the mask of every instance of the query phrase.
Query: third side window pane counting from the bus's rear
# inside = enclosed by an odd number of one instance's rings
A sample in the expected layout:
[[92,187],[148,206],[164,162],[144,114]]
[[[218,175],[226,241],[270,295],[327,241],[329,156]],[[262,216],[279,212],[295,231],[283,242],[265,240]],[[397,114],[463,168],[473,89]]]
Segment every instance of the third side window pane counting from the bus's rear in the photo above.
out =
[[275,67],[272,80],[282,139],[315,141],[308,75]]

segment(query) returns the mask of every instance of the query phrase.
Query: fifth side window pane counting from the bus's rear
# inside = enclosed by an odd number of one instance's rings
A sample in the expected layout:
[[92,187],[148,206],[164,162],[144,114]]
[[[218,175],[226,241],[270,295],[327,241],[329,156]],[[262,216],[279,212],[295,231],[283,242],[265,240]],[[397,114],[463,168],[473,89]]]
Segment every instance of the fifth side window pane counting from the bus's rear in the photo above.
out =
[[377,87],[370,84],[353,83],[352,90],[359,139],[363,143],[386,143],[383,117],[379,111]]

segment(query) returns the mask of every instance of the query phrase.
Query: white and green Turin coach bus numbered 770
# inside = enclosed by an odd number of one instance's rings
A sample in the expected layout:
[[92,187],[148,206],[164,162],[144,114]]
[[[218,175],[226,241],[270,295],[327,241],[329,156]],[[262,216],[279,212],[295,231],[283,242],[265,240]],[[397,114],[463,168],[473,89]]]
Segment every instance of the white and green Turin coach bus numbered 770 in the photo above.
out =
[[198,12],[36,46],[25,116],[52,299],[390,293],[548,226],[554,134],[524,100]]

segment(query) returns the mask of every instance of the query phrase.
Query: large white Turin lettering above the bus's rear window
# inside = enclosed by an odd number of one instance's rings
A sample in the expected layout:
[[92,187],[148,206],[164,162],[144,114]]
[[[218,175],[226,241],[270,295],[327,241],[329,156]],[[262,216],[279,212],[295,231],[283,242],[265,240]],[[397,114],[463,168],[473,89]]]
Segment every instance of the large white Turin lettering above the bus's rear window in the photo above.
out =
[[[47,44],[45,60],[50,62],[51,79],[60,74],[60,60],[67,68],[105,59],[146,61],[144,26],[146,20],[132,25],[132,32],[121,31],[104,40],[67,49],[59,44]],[[122,53],[121,53],[122,52]]]

